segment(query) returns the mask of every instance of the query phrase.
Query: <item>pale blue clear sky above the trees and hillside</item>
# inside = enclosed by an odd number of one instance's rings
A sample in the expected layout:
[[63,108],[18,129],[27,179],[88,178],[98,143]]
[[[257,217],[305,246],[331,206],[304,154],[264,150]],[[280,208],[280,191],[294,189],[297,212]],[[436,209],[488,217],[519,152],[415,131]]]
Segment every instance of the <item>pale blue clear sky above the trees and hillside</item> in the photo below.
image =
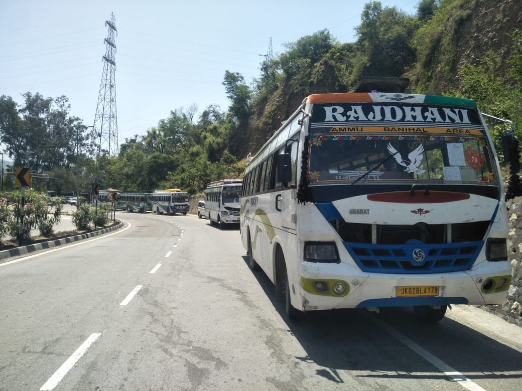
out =
[[[168,118],[171,110],[230,105],[225,71],[247,83],[272,44],[328,29],[354,42],[368,1],[357,0],[0,0],[0,96],[65,95],[71,116],[93,125],[103,74],[105,21],[115,16],[118,143]],[[413,15],[420,0],[381,0]]]

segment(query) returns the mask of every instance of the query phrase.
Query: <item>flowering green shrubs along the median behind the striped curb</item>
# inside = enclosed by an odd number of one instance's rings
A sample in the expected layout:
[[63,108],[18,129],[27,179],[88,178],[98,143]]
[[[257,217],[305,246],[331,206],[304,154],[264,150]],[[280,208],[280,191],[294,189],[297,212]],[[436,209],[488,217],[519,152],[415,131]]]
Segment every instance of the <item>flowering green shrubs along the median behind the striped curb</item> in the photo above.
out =
[[[0,192],[0,239],[30,239],[34,229],[38,229],[43,237],[51,237],[55,226],[61,221],[62,201],[61,197],[49,199],[45,193],[26,190],[20,232],[21,191]],[[109,221],[110,213],[110,204],[102,203],[95,209],[88,203],[81,203],[72,214],[72,223],[79,230],[102,227]]]

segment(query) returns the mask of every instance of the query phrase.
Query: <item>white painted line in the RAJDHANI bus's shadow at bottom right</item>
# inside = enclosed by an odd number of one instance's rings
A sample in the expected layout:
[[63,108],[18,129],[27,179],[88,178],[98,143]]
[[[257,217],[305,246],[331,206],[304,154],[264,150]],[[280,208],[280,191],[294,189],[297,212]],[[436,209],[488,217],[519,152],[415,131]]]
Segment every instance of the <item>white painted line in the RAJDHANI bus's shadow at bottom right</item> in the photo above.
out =
[[477,383],[472,382],[464,376],[462,373],[458,372],[448,364],[446,364],[444,361],[439,359],[438,357],[434,356],[432,353],[430,353],[428,350],[424,349],[420,345],[417,345],[414,343],[411,339],[409,339],[407,336],[402,335],[399,333],[395,328],[392,326],[387,325],[386,323],[375,319],[375,317],[370,316],[370,319],[373,323],[377,324],[379,327],[383,328],[386,332],[397,338],[402,344],[406,345],[408,348],[416,352],[419,356],[421,356],[424,360],[431,363],[436,368],[440,369],[444,374],[448,377],[450,377],[453,381],[460,384],[462,387],[469,389],[470,391],[486,391],[484,388],[479,386]]

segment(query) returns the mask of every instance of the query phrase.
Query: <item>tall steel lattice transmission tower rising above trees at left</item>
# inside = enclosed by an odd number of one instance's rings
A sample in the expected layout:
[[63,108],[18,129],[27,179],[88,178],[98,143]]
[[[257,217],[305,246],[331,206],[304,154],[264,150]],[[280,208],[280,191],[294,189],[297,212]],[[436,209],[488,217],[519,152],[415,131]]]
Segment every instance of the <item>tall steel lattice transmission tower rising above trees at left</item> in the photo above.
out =
[[114,37],[118,35],[114,14],[111,20],[105,21],[108,26],[105,43],[105,55],[102,57],[103,74],[98,95],[98,106],[94,115],[94,126],[91,133],[91,153],[100,155],[117,156],[120,145],[118,144],[118,119],[116,116],[116,44]]

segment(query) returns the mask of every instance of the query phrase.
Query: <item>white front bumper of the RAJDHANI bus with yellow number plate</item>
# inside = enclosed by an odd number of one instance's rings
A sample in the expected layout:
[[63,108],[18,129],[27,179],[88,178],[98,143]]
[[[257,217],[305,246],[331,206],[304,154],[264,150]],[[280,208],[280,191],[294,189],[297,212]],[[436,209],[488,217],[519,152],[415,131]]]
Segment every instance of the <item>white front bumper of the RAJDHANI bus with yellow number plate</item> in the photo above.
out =
[[[303,262],[301,310],[502,304],[511,284],[511,264],[481,262],[470,270],[433,274],[364,273],[347,264]],[[342,268],[346,273],[338,273]],[[328,273],[328,271],[337,273]],[[321,271],[319,273],[319,271]],[[354,272],[355,271],[355,272]],[[345,286],[345,290],[342,290]],[[292,303],[294,307],[298,308]]]

